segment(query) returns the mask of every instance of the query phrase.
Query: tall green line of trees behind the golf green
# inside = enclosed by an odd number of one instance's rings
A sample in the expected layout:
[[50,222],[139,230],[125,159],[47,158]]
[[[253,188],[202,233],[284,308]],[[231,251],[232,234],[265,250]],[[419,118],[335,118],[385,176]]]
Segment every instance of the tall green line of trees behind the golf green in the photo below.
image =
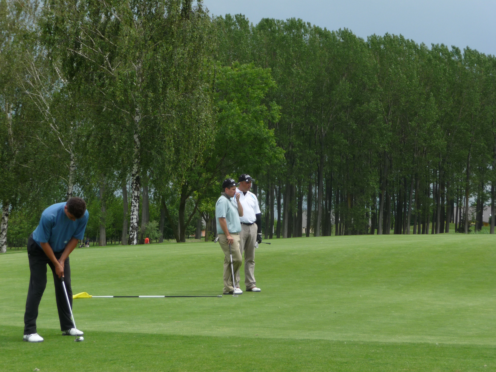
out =
[[269,239],[302,236],[305,213],[307,236],[468,233],[470,200],[476,230],[494,214],[494,56],[191,0],[0,0],[0,30],[2,249],[10,214],[19,235],[76,194],[100,245],[202,221],[208,239],[239,173]]

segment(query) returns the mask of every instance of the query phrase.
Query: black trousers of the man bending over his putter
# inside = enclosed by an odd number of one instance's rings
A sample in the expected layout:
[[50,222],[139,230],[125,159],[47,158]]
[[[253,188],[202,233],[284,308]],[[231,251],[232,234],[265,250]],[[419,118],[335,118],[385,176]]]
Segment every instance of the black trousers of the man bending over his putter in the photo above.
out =
[[[45,292],[45,288],[47,287],[47,264],[52,269],[54,275],[55,298],[57,300],[61,330],[65,331],[66,329],[74,327],[70,318],[69,308],[67,307],[67,300],[63,293],[62,281],[55,273],[54,264],[50,261],[50,258],[48,258],[45,252],[38,247],[32,236],[29,237],[27,248],[31,276],[29,278],[28,297],[26,299],[26,312],[24,313],[24,334],[36,333],[38,307],[40,306],[43,292]],[[54,252],[55,257],[59,259],[62,256],[62,252]],[[70,306],[72,308],[72,289],[70,288],[70,265],[68,257],[64,263],[63,273],[67,296],[69,297]]]

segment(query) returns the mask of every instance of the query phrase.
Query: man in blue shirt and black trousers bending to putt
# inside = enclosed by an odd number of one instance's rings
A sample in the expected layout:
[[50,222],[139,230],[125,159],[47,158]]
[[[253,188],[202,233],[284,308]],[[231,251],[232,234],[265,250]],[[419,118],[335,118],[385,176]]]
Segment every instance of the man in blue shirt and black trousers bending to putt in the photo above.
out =
[[40,224],[29,236],[27,248],[31,276],[24,313],[24,341],[43,341],[43,337],[36,333],[36,318],[41,297],[47,286],[47,264],[54,275],[55,298],[62,335],[83,334],[73,328],[60,278],[62,276],[64,278],[72,307],[69,254],[76,247],[78,240],[84,238],[88,215],[85,201],[80,197],[71,197],[67,202],[53,204],[45,209],[41,214]]

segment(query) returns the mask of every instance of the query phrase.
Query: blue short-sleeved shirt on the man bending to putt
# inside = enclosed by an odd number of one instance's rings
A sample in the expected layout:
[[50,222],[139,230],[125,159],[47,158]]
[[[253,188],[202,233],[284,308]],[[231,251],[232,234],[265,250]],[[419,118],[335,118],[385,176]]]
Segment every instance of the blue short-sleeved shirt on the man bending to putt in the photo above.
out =
[[54,252],[62,251],[69,240],[74,237],[82,240],[88,222],[89,213],[72,221],[63,210],[65,202],[49,206],[43,211],[40,224],[33,232],[33,239],[41,247],[41,243],[49,243]]

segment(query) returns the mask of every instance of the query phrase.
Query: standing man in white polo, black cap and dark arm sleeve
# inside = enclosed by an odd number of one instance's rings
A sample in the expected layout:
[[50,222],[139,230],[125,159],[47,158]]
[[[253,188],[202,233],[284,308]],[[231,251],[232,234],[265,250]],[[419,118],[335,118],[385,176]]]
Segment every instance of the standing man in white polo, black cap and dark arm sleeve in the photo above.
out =
[[[240,217],[240,251],[245,253],[245,286],[248,292],[260,292],[256,287],[256,280],[253,274],[255,269],[255,244],[262,243],[262,219],[256,195],[250,192],[251,181],[249,175],[242,174],[239,179],[236,192],[240,193],[238,203],[243,206],[243,216]],[[240,287],[240,273],[236,275],[236,288]]]

